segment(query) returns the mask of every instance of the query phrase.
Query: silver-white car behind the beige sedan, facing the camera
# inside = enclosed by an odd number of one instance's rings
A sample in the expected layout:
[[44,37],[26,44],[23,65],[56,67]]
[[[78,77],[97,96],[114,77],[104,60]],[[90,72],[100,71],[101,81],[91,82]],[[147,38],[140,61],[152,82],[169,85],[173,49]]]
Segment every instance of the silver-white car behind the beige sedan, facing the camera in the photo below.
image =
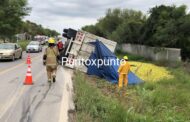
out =
[[26,52],[42,52],[42,45],[38,41],[31,41],[26,47]]

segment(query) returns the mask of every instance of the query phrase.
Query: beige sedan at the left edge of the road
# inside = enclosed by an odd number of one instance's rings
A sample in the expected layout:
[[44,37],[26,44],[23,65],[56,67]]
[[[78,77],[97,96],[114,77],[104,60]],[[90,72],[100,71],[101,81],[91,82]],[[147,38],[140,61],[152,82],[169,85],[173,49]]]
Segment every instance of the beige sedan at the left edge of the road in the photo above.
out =
[[16,43],[2,43],[0,44],[0,60],[22,58],[22,48]]

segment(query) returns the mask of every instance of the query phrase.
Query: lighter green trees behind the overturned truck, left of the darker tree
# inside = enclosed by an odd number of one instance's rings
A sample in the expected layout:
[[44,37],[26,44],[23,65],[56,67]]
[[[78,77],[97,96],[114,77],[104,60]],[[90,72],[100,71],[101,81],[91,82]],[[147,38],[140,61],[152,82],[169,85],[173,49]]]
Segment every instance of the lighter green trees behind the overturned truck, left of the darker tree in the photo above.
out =
[[82,29],[119,43],[137,43],[145,21],[146,16],[140,11],[108,9],[106,16],[99,19],[96,25]]

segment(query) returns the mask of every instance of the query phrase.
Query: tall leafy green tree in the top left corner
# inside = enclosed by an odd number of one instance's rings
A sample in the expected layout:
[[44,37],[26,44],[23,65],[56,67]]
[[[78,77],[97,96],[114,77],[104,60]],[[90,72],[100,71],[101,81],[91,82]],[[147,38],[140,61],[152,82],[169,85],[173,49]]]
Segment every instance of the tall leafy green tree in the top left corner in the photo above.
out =
[[22,24],[22,17],[29,13],[27,0],[0,1],[0,38],[11,38]]

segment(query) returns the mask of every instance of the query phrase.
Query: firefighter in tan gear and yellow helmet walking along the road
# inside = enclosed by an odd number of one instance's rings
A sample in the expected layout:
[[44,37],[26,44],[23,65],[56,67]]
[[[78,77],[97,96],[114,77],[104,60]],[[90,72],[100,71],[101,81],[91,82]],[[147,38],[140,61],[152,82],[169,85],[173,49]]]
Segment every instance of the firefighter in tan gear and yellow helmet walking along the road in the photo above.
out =
[[48,40],[48,47],[43,56],[44,65],[46,65],[48,82],[56,82],[56,71],[58,66],[59,51],[55,45],[55,40],[50,38]]

